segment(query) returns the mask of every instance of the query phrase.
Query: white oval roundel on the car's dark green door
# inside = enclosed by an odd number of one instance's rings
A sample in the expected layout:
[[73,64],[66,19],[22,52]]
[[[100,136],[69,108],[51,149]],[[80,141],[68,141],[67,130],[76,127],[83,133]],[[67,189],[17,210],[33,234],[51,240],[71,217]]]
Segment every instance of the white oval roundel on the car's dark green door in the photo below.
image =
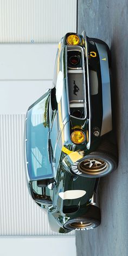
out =
[[59,196],[63,199],[77,199],[86,194],[85,190],[67,190],[65,192],[60,192]]

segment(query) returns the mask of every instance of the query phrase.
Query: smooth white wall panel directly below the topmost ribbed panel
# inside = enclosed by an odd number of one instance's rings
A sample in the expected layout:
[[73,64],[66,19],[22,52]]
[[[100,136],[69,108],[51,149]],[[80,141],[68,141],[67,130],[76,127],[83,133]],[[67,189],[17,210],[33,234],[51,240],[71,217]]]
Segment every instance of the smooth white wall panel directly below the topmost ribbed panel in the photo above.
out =
[[56,52],[52,43],[0,44],[0,80],[52,80]]

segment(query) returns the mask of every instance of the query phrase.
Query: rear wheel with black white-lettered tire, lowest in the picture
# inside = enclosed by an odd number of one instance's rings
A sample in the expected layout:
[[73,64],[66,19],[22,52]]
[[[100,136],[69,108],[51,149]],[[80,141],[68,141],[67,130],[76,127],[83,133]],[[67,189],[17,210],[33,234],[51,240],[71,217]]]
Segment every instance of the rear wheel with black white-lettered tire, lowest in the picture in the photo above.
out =
[[70,230],[85,230],[85,229],[93,229],[100,225],[101,215],[100,208],[97,206],[89,206],[88,211],[81,217],[76,217],[75,219],[68,220],[64,228]]

